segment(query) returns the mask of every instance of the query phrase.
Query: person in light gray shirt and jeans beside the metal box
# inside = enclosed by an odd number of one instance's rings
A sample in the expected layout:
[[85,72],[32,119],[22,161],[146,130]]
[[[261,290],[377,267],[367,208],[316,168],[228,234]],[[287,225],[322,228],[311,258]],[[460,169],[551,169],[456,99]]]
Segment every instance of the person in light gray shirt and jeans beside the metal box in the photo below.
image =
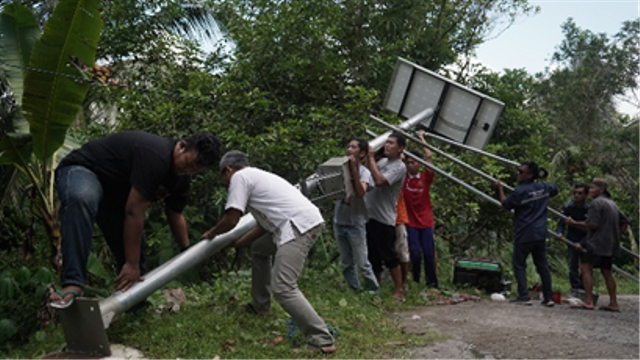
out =
[[[367,208],[364,195],[374,187],[371,172],[363,163],[367,159],[369,143],[360,138],[352,138],[347,145],[353,194],[347,199],[336,201],[333,216],[333,232],[340,252],[342,274],[347,285],[354,291],[362,290],[358,270],[364,280],[364,289],[378,293],[378,280],[373,273],[367,252]],[[357,268],[356,268],[357,267]]]

